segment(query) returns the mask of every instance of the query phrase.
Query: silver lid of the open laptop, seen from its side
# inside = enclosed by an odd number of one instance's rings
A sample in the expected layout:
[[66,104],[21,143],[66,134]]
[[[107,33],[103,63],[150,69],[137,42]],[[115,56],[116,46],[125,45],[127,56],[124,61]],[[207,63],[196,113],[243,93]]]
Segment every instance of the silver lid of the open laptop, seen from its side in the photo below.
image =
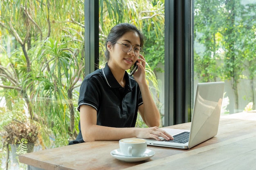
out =
[[224,82],[198,83],[188,148],[217,135]]

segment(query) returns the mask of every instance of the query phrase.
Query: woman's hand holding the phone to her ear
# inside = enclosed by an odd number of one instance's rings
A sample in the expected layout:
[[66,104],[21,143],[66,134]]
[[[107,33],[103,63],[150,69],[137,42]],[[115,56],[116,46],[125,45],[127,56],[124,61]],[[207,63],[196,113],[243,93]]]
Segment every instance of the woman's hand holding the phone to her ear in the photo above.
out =
[[138,84],[141,84],[146,82],[146,60],[141,54],[139,57],[137,60],[138,70],[133,74],[133,77]]

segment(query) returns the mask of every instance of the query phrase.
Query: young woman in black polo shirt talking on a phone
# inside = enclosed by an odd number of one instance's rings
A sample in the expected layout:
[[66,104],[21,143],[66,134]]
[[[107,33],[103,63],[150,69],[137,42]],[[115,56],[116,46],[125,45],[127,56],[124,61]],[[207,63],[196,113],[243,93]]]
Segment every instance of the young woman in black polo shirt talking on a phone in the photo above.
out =
[[[173,139],[158,128],[160,114],[146,82],[144,44],[141,32],[121,23],[110,30],[106,40],[105,67],[87,75],[80,88],[79,135],[70,144],[128,137]],[[128,70],[137,62],[133,77]],[[149,128],[135,128],[137,112]]]

